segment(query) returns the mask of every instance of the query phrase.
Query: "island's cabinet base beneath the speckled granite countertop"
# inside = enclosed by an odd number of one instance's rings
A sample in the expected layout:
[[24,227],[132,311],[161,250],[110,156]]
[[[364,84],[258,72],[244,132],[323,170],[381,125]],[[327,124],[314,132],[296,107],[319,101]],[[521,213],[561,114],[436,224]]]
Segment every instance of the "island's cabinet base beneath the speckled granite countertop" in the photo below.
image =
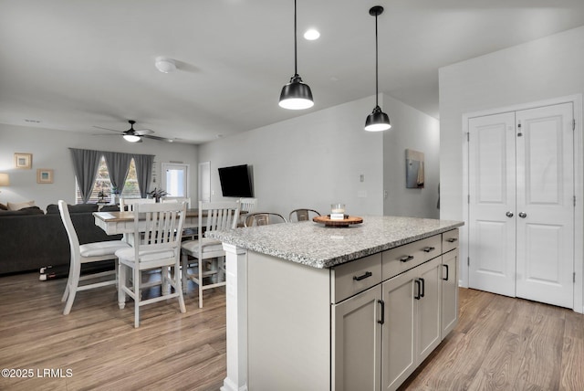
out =
[[330,269],[249,252],[248,389],[397,389],[457,321],[446,234]]

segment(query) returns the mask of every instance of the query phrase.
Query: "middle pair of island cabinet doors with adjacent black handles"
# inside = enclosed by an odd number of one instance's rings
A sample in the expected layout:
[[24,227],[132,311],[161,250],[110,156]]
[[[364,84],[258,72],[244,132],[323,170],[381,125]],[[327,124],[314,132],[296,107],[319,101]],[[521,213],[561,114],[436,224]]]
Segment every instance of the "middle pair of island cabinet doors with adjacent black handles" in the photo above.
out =
[[441,341],[441,257],[382,284],[383,390],[395,390]]

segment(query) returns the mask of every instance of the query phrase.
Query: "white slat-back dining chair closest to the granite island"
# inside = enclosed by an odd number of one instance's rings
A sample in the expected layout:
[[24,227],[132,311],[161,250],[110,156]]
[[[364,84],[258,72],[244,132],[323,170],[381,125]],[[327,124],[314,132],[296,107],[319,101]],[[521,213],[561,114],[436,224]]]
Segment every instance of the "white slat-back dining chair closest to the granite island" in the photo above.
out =
[[[199,238],[183,242],[183,288],[187,280],[193,280],[199,287],[199,308],[203,308],[203,291],[225,285],[225,251],[219,240],[204,238],[203,233],[233,229],[239,218],[239,202],[199,201]],[[193,262],[189,257],[196,259]],[[196,272],[189,273],[189,266],[196,264]],[[212,278],[210,283],[205,280]]]

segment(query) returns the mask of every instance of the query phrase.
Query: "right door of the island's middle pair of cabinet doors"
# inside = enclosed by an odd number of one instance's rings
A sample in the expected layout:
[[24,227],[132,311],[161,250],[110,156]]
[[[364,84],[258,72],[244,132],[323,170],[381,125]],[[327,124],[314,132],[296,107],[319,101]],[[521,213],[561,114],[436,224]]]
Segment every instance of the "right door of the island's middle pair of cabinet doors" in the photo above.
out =
[[416,363],[420,365],[442,341],[440,338],[442,330],[442,323],[440,322],[442,310],[442,257],[434,258],[416,269],[416,277],[420,281],[422,290],[420,294],[422,297],[416,300],[418,306]]

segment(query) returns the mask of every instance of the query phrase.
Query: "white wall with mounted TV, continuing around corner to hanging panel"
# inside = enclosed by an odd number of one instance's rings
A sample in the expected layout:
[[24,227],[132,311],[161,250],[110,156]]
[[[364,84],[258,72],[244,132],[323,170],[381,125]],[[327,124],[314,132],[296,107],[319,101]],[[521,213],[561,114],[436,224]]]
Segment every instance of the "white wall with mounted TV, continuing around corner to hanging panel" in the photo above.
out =
[[[424,138],[424,131],[437,132],[437,122],[398,100],[381,98],[393,124],[389,132],[363,131],[374,106],[370,97],[201,145],[200,161],[211,162],[212,200],[223,199],[218,167],[251,164],[258,210],[288,217],[294,208],[311,207],[328,214],[330,204],[340,202],[346,204],[350,215],[382,215],[383,181],[390,178],[389,190],[395,195],[387,203],[391,213],[432,217],[437,197],[438,139],[437,135],[433,142],[418,139]],[[401,132],[412,133],[401,136]],[[384,157],[384,148],[391,149],[389,159]],[[405,148],[428,153],[426,158],[435,167],[428,175],[435,186],[414,190],[413,197],[403,196]],[[386,177],[384,171],[396,173]],[[435,195],[433,200],[427,202],[426,193]]]

